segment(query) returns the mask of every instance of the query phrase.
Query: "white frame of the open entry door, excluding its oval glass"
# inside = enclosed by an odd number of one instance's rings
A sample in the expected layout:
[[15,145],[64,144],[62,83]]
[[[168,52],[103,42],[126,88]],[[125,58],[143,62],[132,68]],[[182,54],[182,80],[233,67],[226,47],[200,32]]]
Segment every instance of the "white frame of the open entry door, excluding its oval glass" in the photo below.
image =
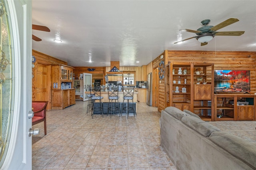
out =
[[[32,137],[28,131],[32,120],[28,112],[32,110],[32,1],[8,0],[10,29],[13,41],[12,64],[14,68],[14,110],[10,143],[1,169],[32,169]],[[17,15],[18,14],[18,15]]]

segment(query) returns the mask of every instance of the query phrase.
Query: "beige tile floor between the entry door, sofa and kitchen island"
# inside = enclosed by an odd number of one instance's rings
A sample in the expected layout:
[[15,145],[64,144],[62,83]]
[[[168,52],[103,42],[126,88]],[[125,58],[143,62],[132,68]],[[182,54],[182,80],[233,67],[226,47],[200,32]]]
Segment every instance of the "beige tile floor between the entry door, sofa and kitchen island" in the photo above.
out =
[[33,126],[32,169],[59,170],[176,170],[160,146],[160,113],[138,103],[136,117],[86,113],[87,102],[47,111],[43,123]]

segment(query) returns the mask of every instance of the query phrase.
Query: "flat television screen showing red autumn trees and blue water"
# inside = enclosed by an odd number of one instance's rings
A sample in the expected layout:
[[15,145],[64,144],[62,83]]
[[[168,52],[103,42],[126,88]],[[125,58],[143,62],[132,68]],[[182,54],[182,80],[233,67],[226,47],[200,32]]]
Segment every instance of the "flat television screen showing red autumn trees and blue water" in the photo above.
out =
[[250,71],[214,70],[214,92],[250,92]]

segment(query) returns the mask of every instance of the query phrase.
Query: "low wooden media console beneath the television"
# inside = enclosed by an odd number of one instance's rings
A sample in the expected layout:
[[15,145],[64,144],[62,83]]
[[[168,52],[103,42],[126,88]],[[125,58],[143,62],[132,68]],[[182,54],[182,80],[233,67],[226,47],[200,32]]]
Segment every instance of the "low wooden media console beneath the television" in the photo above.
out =
[[[238,105],[238,100],[249,101],[248,105]],[[214,121],[255,120],[253,94],[214,94]]]

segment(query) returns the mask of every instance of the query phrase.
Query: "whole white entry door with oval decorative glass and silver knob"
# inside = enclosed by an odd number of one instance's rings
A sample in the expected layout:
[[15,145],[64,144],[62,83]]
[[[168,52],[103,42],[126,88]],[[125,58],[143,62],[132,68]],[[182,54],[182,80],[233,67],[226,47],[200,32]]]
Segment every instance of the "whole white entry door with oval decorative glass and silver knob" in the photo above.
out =
[[32,137],[28,135],[33,115],[31,16],[32,1],[0,0],[0,169],[3,170],[32,169]]

